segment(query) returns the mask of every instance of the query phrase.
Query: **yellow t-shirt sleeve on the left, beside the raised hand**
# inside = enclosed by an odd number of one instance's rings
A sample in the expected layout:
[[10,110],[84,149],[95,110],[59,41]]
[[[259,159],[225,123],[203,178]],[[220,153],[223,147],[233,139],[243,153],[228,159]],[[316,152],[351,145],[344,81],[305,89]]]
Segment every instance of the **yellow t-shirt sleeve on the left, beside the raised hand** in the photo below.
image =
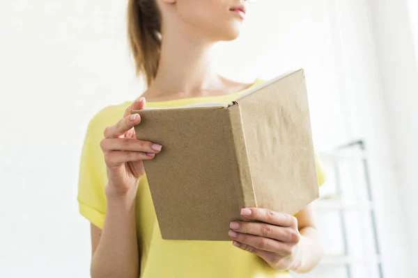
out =
[[100,113],[88,123],[79,163],[78,195],[79,213],[103,229],[106,213],[104,186],[107,183],[104,156],[100,148],[105,124]]

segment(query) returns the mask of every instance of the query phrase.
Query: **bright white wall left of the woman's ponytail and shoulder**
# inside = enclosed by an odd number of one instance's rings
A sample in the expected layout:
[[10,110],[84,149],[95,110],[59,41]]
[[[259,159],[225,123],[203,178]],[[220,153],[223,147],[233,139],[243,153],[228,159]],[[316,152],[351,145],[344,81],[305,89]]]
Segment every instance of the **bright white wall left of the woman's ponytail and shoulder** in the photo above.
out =
[[88,277],[88,120],[132,99],[123,1],[0,1],[0,277]]

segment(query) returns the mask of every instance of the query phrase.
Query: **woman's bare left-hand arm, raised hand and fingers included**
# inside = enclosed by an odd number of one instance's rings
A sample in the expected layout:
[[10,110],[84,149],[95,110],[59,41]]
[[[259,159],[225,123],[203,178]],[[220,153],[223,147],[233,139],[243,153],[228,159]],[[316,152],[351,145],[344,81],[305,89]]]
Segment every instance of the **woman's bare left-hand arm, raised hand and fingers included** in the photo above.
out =
[[92,278],[139,277],[135,199],[145,174],[143,161],[153,159],[162,147],[137,140],[134,126],[141,118],[130,111],[144,106],[144,98],[134,101],[120,121],[104,130],[100,142],[108,178],[107,207],[103,230],[91,224]]

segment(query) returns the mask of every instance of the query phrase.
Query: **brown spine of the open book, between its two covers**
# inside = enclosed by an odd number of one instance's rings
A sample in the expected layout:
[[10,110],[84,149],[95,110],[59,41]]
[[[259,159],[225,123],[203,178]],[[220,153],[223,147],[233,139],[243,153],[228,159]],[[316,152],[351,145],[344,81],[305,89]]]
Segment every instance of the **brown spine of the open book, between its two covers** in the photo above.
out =
[[228,108],[229,120],[231,122],[232,140],[234,148],[231,149],[233,177],[235,190],[240,198],[242,207],[256,207],[256,194],[251,179],[247,145],[242,125],[240,106],[235,104]]

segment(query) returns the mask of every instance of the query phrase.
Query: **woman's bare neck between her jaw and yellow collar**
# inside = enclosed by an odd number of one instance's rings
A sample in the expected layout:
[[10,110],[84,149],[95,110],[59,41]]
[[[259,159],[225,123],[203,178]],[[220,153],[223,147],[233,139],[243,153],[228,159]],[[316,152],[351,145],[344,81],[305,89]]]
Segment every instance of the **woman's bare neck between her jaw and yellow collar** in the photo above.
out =
[[221,78],[211,63],[213,45],[213,42],[193,35],[165,34],[157,76],[149,89],[153,88],[158,95],[177,92],[195,95],[219,87]]

